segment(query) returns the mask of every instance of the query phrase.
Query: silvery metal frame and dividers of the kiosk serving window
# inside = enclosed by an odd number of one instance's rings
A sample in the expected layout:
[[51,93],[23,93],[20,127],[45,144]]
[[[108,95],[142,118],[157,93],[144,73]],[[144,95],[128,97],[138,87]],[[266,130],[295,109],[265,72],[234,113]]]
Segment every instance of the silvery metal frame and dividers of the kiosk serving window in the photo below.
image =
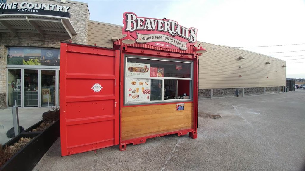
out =
[[[181,62],[181,63],[189,63],[191,64],[191,78],[179,78],[179,77],[127,77],[127,58],[135,58],[135,59],[147,59],[147,60],[154,60],[154,61],[170,61],[170,62]],[[181,103],[181,102],[190,102],[193,101],[193,68],[194,68],[194,62],[192,60],[181,60],[181,59],[171,59],[171,58],[158,58],[158,57],[151,57],[151,56],[138,56],[138,55],[130,55],[130,54],[124,54],[124,85],[123,85],[123,99],[124,99],[124,106],[132,106],[132,105],[149,105],[149,104],[166,104],[166,103]],[[162,90],[164,88],[164,80],[177,80],[176,84],[176,93],[178,95],[178,80],[190,80],[190,91],[189,91],[189,99],[167,99],[164,100],[164,92],[162,92],[162,100],[154,100],[149,102],[127,102],[127,95],[126,95],[126,82],[127,79],[161,79],[162,80]]]

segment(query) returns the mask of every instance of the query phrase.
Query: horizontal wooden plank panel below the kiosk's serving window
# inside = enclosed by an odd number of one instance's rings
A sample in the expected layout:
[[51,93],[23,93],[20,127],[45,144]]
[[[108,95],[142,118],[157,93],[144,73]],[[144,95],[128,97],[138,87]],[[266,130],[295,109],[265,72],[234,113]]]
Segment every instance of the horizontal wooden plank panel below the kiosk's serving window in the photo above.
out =
[[193,128],[193,103],[177,111],[176,104],[123,107],[122,140]]

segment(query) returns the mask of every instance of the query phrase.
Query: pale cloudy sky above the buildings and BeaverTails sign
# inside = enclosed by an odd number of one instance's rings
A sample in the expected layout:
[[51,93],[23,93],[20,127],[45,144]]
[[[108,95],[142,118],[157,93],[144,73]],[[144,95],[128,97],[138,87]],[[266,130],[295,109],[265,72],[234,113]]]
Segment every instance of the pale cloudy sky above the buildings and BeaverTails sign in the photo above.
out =
[[[198,40],[231,47],[305,43],[302,0],[76,0],[88,3],[90,20],[123,25],[123,13],[172,19],[198,28]],[[245,48],[254,52],[305,50],[305,45]],[[305,78],[305,51],[267,54],[286,61],[286,78]],[[303,63],[291,63],[303,62]],[[291,63],[291,64],[289,64]]]

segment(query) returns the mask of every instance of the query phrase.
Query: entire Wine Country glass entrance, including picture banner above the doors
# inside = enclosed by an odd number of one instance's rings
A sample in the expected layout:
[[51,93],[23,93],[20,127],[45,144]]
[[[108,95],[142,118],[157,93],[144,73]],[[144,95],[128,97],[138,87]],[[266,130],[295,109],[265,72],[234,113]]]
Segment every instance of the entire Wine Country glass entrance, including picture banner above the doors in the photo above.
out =
[[56,106],[59,61],[59,49],[9,47],[8,106]]

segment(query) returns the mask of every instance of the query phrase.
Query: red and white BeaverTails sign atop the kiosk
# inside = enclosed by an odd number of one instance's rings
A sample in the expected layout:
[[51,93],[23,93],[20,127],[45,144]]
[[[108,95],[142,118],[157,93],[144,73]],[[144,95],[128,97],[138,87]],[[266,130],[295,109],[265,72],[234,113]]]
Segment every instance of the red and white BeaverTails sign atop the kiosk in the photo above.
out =
[[137,43],[187,50],[197,42],[198,29],[180,26],[170,19],[138,17],[132,12],[125,12],[123,18],[123,34],[129,32]]

